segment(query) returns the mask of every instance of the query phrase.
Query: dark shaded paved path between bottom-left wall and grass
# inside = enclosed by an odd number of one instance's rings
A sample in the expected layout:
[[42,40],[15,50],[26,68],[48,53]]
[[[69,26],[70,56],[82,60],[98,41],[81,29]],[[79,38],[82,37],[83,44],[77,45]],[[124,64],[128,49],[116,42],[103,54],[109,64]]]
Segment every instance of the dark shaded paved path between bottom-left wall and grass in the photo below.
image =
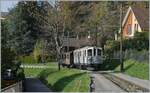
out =
[[25,92],[51,92],[51,90],[37,78],[26,78]]

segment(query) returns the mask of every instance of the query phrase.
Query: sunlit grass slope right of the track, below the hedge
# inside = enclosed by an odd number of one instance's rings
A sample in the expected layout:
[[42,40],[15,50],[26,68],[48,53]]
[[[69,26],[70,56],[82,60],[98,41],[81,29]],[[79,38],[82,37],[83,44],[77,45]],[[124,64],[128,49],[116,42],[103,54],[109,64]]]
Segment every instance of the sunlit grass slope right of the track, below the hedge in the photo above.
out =
[[[115,71],[119,71],[118,66]],[[136,62],[135,60],[124,61],[124,73],[140,79],[149,79],[149,64],[144,62]]]

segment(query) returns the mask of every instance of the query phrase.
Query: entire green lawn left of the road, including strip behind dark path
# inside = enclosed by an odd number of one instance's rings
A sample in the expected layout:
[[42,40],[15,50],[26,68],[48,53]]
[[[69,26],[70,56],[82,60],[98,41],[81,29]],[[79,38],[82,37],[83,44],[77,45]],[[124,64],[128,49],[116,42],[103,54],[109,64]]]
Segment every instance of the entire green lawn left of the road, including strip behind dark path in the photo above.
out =
[[[88,92],[90,77],[89,74],[78,69],[62,68],[58,71],[56,63],[46,64],[50,68],[26,68],[25,76],[37,77],[50,89],[56,92]],[[52,68],[51,68],[52,67]],[[55,67],[55,68],[54,68]]]

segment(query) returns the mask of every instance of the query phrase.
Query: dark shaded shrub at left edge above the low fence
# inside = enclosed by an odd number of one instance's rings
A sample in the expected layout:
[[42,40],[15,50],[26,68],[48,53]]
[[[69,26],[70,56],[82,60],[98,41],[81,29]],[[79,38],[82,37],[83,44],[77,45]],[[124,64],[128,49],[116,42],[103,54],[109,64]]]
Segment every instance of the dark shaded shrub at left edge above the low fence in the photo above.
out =
[[[21,70],[21,62],[16,60],[16,54],[9,48],[2,48],[2,79],[5,79],[6,69],[11,69],[13,78],[15,80],[22,80],[24,78],[24,72]],[[5,86],[3,82],[2,86]]]

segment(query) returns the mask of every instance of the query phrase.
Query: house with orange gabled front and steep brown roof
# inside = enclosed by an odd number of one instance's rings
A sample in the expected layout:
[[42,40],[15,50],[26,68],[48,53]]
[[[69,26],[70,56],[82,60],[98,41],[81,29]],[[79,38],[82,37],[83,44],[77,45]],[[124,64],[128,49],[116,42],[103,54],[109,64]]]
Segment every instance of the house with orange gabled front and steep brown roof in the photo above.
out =
[[123,19],[123,38],[134,37],[135,32],[149,30],[149,10],[140,7],[129,7]]

